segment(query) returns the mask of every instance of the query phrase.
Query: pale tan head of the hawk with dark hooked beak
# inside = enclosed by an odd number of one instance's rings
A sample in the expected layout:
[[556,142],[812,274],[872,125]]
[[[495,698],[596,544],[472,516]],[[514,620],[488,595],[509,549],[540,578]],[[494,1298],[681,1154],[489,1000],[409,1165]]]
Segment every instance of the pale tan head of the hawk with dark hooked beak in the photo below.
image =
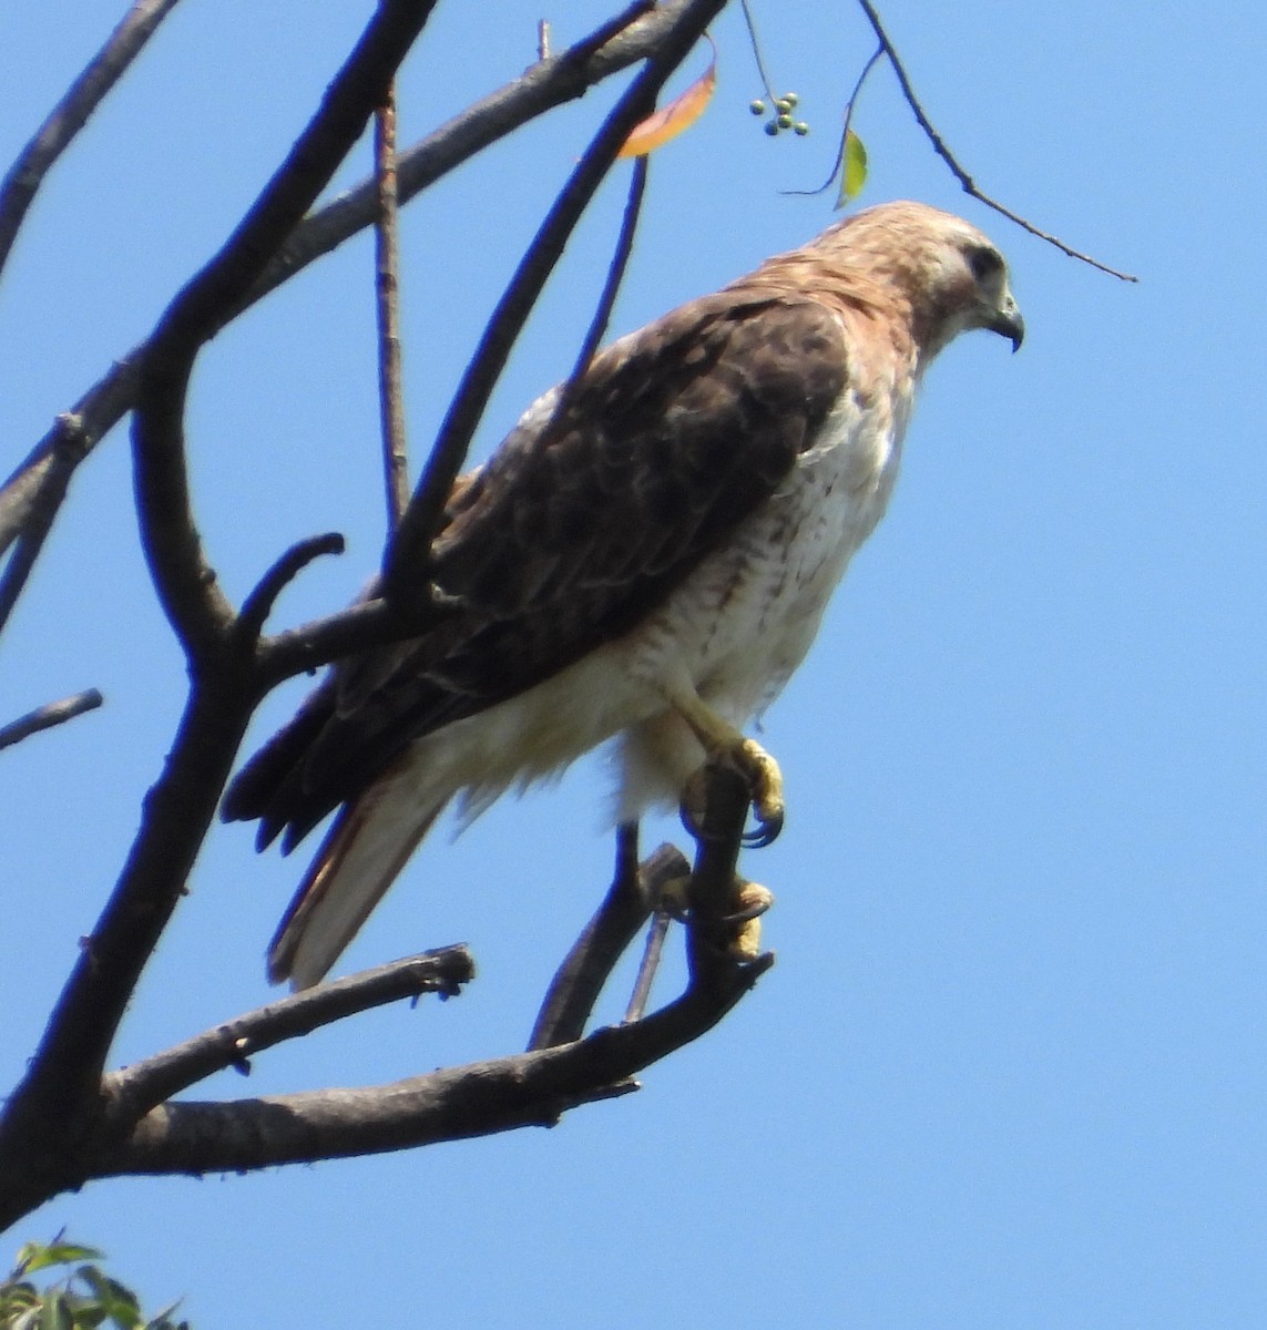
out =
[[926,364],[960,332],[989,329],[1015,351],[1025,321],[1007,286],[1007,265],[976,226],[928,203],[881,203],[829,227],[811,246],[853,277],[881,287],[909,313]]

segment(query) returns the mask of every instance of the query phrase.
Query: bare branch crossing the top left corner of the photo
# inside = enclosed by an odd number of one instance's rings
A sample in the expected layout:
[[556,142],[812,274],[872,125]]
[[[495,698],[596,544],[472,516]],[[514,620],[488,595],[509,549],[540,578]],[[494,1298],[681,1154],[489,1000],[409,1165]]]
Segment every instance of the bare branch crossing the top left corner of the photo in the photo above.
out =
[[36,192],[177,0],[136,0],[0,181],[0,271]]

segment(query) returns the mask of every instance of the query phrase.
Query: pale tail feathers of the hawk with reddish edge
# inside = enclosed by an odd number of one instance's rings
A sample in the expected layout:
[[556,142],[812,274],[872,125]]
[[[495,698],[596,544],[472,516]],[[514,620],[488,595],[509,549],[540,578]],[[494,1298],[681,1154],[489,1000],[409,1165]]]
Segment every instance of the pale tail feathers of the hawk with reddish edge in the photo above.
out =
[[395,793],[393,782],[371,789],[334,819],[269,943],[270,983],[299,990],[325,978],[449,802]]

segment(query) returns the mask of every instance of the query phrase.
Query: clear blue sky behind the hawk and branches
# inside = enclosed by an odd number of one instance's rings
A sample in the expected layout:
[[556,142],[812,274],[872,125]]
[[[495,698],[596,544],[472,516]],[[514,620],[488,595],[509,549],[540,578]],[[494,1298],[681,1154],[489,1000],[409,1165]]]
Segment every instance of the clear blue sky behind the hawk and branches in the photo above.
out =
[[[846,3],[756,4],[775,77],[814,132],[761,134],[728,12],[715,104],[652,164],[618,330],[830,219],[829,198],[779,190],[824,174],[870,39]],[[0,157],[121,8],[4,8]],[[11,459],[222,239],[370,9],[186,0],[169,20],[57,168],[0,290]],[[542,13],[562,43],[606,9]],[[24,1224],[5,1261],[67,1225],[150,1305],[185,1294],[198,1330],[1263,1323],[1267,15],[1090,0],[884,12],[982,186],[1143,282],[968,200],[892,76],[873,76],[864,202],[922,198],[984,226],[1010,257],[1029,336],[1015,358],[965,339],[930,374],[890,515],[767,718],[791,818],[747,868],[779,896],[776,968],[641,1093],[552,1132],[96,1184]],[[526,66],[536,17],[442,4],[403,78],[402,136]],[[610,96],[409,210],[419,452]],[[568,366],[623,188],[572,246],[480,451]],[[230,592],[297,537],[349,536],[346,557],[287,595],[285,621],[341,605],[381,539],[370,270],[367,242],[346,246],[222,335],[198,372],[200,519]],[[182,697],[122,432],[84,467],[9,633],[0,716],[93,685],[105,709],[3,762],[5,1084],[110,886]],[[299,693],[274,697],[254,737]],[[359,967],[468,940],[480,978],[460,1000],[333,1028],[209,1092],[387,1080],[519,1047],[608,878],[603,775],[584,762],[455,843],[435,837],[349,954]],[[121,1060],[266,1000],[262,948],[299,868],[257,859],[242,827],[216,831]]]

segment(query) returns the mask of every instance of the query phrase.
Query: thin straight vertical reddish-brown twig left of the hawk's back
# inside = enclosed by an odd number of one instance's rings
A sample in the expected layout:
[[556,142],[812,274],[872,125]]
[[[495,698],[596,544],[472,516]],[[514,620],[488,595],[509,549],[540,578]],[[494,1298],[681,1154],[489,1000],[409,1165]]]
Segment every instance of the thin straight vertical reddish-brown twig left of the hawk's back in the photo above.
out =
[[383,439],[387,531],[395,531],[409,504],[409,452],[405,444],[405,391],[401,382],[401,227],[395,169],[395,85],[374,114],[374,174],[378,221],[374,226],[375,311],[378,315],[378,404]]

